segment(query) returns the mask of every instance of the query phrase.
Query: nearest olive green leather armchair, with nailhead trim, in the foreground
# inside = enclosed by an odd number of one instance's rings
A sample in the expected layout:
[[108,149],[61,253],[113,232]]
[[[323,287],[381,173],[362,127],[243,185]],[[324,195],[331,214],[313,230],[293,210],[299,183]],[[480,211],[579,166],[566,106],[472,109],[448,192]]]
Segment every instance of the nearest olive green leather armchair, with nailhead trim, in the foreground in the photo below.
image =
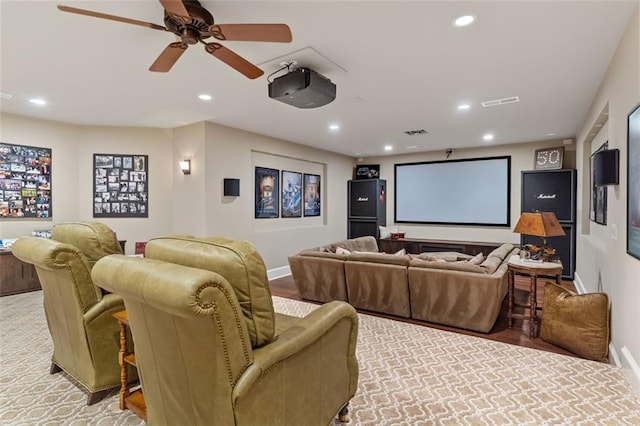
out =
[[346,421],[358,384],[353,307],[275,314],[246,242],[158,238],[145,255],[105,257],[92,275],[124,298],[150,425]]

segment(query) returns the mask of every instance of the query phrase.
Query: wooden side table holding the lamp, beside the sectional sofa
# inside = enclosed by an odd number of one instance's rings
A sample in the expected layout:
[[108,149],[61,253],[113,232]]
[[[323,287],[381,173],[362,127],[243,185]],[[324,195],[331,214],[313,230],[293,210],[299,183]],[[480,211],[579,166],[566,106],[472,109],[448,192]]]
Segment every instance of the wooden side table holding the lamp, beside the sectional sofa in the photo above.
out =
[[[509,280],[509,328],[513,326],[514,318],[529,318],[529,337],[536,336],[536,327],[538,325],[538,276],[555,276],[556,284],[562,281],[562,263],[560,262],[532,262],[522,260],[518,255],[511,256],[507,262],[508,280]],[[514,302],[515,275],[529,276],[529,305],[517,304]],[[513,312],[514,307],[528,307],[529,316],[516,314]]]

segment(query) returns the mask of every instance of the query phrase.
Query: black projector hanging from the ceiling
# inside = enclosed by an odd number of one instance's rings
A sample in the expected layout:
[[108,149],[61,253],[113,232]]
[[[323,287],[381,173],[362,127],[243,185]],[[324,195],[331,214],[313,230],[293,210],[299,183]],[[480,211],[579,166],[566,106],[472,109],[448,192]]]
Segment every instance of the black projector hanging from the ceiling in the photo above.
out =
[[309,68],[296,68],[269,83],[269,97],[296,108],[318,108],[336,98],[336,85]]

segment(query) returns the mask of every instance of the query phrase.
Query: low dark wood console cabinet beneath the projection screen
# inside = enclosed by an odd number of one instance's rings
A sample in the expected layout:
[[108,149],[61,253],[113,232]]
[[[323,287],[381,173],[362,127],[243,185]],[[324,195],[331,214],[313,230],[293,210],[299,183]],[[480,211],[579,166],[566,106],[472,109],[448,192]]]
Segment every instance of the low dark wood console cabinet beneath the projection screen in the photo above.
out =
[[424,253],[435,251],[456,251],[459,253],[476,255],[483,253],[485,256],[494,249],[500,247],[502,243],[487,243],[473,241],[449,241],[449,240],[424,240],[418,238],[381,238],[378,240],[380,251],[395,253],[405,249],[407,253]]

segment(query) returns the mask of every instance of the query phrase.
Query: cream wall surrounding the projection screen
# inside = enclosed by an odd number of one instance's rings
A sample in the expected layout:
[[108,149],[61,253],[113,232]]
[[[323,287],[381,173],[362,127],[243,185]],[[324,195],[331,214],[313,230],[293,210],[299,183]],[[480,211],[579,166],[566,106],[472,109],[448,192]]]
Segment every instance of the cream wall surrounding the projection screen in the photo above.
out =
[[[533,170],[533,159],[536,149],[564,146],[562,140],[529,142],[511,145],[489,146],[483,148],[456,149],[450,160],[466,158],[483,158],[495,156],[511,156],[511,226],[462,226],[462,225],[414,225],[395,224],[394,218],[394,164],[421,161],[442,161],[446,159],[445,151],[424,152],[416,154],[396,155],[392,157],[373,157],[363,159],[363,164],[380,164],[380,175],[387,180],[387,225],[398,226],[407,238],[431,238],[443,240],[508,242],[520,244],[520,234],[514,234],[513,228],[520,217],[521,174],[523,170]],[[575,167],[575,143],[565,146],[564,168]],[[478,177],[478,191],[482,191],[482,176]]]

